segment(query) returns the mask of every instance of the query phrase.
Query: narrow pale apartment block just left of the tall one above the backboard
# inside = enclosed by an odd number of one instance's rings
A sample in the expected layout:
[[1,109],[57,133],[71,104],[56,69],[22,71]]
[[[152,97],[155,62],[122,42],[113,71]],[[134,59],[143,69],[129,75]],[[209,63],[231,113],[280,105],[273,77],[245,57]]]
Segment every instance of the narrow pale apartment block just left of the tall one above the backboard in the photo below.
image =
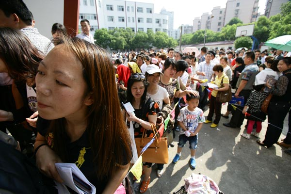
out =
[[213,17],[211,18],[210,30],[214,32],[221,31],[224,24],[225,11],[226,8],[220,8],[220,6],[213,7],[211,14]]

